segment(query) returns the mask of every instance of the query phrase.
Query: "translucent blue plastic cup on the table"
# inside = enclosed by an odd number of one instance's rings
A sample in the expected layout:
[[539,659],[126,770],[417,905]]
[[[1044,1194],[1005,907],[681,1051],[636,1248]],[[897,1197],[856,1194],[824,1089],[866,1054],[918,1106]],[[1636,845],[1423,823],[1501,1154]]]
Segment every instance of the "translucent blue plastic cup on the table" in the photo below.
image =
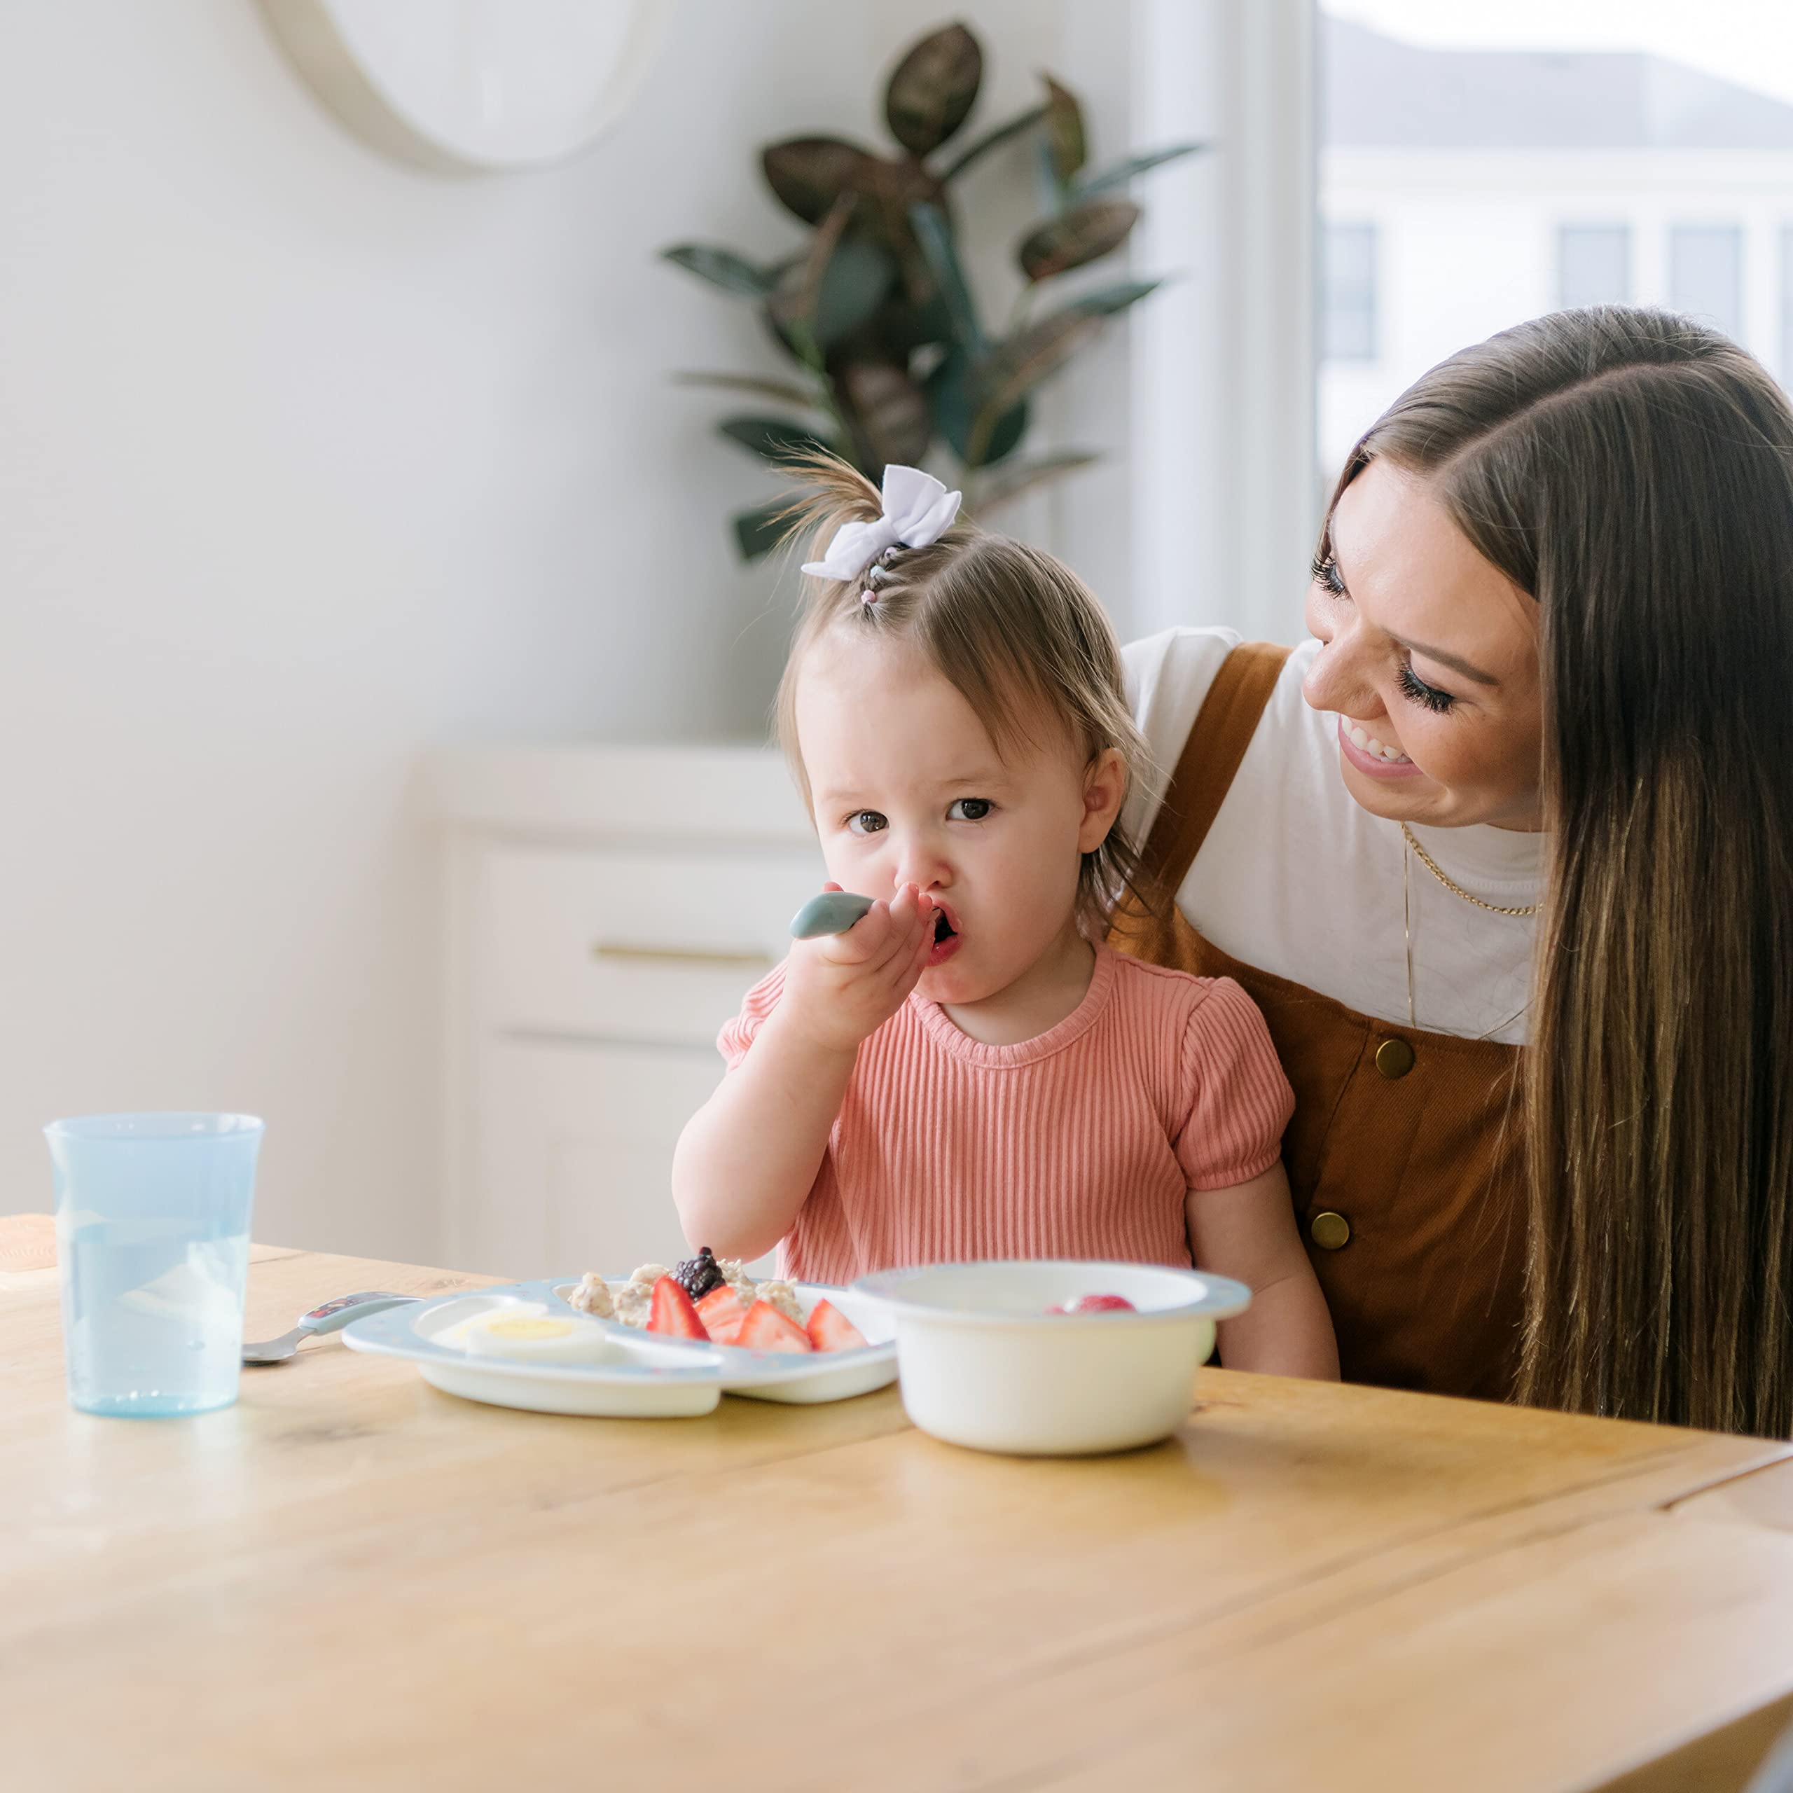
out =
[[81,1115],[56,1169],[68,1399],[156,1418],[237,1399],[255,1115]]

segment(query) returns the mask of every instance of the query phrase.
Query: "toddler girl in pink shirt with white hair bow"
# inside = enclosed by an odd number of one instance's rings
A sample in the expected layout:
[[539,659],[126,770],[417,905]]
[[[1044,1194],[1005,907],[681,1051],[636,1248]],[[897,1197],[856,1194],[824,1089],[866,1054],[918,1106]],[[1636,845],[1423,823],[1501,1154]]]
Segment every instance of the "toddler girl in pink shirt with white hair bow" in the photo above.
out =
[[685,1237],[850,1282],[974,1257],[1191,1262],[1255,1291],[1230,1368],[1338,1375],[1282,1169],[1293,1110],[1230,979],[1101,945],[1140,739],[1096,599],[893,466],[814,468],[832,533],[778,697],[830,889],[721,1035],[672,1169]]

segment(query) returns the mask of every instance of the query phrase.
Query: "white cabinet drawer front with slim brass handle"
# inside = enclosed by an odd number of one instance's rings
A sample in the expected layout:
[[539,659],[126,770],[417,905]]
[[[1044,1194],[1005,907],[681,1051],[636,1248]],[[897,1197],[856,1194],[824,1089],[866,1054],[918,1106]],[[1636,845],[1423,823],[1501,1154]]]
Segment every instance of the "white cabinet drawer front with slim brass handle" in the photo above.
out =
[[570,852],[481,855],[481,1020],[506,1033],[710,1045],[791,943],[821,855]]

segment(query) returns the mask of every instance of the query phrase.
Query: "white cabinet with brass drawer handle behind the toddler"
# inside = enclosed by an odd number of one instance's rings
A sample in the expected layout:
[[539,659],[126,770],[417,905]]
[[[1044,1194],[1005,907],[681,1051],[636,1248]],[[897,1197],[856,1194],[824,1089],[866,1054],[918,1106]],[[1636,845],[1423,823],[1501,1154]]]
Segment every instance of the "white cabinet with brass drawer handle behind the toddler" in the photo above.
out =
[[450,1264],[628,1271],[687,1246],[667,1176],[715,1033],[821,855],[758,749],[468,749],[448,836]]

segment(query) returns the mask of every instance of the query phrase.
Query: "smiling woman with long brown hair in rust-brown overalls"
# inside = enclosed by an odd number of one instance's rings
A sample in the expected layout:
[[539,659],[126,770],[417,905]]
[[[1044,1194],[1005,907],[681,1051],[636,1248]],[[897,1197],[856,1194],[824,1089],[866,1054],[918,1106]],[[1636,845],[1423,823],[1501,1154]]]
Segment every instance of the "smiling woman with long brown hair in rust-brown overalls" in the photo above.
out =
[[1793,411],[1558,312],[1339,477],[1286,654],[1128,651],[1176,904],[1239,977],[1347,1377],[1793,1433]]

